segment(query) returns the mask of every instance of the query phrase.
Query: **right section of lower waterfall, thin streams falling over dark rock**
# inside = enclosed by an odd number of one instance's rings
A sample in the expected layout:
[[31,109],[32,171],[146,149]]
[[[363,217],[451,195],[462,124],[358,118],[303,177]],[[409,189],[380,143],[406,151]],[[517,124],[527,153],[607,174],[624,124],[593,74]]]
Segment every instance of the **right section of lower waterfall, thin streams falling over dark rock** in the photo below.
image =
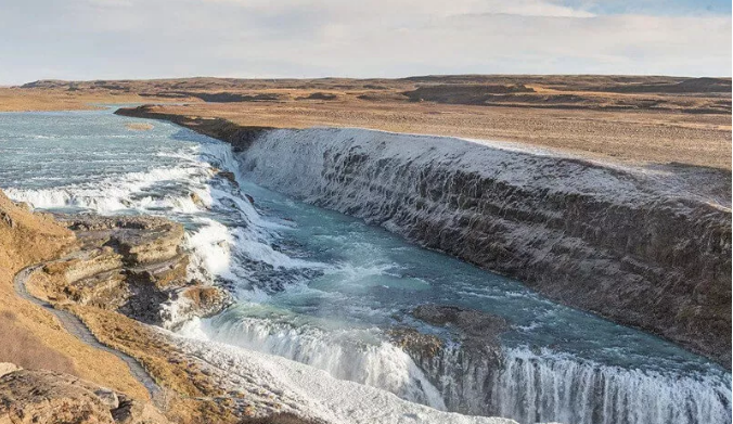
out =
[[520,423],[665,424],[730,422],[730,381],[588,363],[567,355],[506,349],[501,363],[451,345],[417,363],[446,406]]

